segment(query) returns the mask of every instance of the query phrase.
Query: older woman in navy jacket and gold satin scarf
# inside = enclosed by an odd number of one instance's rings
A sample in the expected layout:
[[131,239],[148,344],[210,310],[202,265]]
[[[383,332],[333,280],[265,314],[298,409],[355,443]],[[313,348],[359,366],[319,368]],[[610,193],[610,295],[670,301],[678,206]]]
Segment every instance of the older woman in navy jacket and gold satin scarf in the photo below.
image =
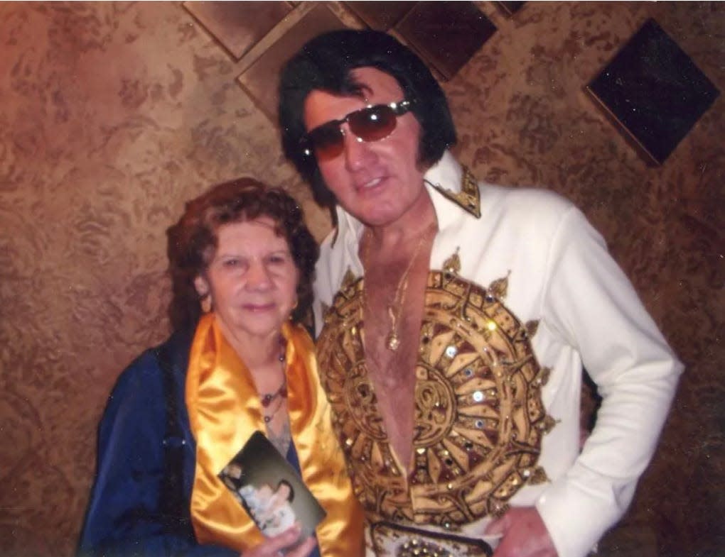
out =
[[[307,315],[318,248],[283,190],[239,179],[167,231],[175,333],[120,376],[99,427],[79,553],[357,556],[362,514],[331,430]],[[218,474],[255,431],[326,511],[265,537]]]

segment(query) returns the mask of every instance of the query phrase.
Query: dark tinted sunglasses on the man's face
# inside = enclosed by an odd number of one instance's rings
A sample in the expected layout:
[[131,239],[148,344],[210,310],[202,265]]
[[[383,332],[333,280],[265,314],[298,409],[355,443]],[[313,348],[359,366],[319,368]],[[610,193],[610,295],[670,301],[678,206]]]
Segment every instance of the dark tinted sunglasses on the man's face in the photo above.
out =
[[344,149],[345,132],[342,124],[347,122],[350,131],[365,142],[378,141],[392,134],[397,117],[402,116],[413,107],[410,101],[399,103],[376,104],[365,109],[356,110],[341,120],[331,120],[302,136],[302,148],[305,155],[312,150],[318,159],[331,159],[339,156]]

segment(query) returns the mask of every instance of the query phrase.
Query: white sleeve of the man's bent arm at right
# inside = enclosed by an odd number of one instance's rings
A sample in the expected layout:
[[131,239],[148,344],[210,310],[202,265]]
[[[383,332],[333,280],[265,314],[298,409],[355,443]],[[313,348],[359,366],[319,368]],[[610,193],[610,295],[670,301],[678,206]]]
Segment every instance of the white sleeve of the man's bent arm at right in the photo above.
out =
[[576,208],[552,242],[547,276],[547,326],[581,354],[602,396],[581,454],[536,503],[559,556],[582,557],[629,506],[683,368]]

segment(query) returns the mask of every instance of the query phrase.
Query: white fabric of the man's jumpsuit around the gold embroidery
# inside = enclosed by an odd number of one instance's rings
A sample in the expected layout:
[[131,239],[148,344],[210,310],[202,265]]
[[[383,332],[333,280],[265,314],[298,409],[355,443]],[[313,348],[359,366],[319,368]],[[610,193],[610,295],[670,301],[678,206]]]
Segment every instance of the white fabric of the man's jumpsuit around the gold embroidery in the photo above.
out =
[[[581,557],[629,505],[682,364],[576,207],[552,192],[479,184],[476,218],[433,187],[460,191],[462,172],[446,153],[426,174],[439,223],[430,268],[460,250],[461,276],[484,287],[508,276],[505,305],[522,323],[539,320],[532,345],[539,364],[552,370],[542,396],[557,421],[544,436],[539,465],[552,481],[521,489],[510,504],[537,506],[559,556]],[[318,333],[321,304],[331,305],[347,269],[363,274],[363,226],[337,211],[337,234],[323,243],[317,266]],[[579,454],[582,364],[603,401]]]

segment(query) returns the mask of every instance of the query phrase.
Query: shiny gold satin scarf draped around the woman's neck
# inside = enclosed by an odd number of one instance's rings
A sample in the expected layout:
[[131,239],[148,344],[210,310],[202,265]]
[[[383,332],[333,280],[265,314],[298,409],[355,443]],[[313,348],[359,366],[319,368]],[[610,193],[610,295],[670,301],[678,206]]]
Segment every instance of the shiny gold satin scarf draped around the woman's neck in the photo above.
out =
[[[363,513],[320,386],[315,346],[302,326],[285,323],[287,407],[302,479],[327,512],[317,528],[323,557],[363,554]],[[217,477],[257,430],[266,433],[252,375],[224,339],[213,314],[202,316],[191,344],[186,407],[196,439],[191,522],[196,540],[240,553],[264,536]]]

